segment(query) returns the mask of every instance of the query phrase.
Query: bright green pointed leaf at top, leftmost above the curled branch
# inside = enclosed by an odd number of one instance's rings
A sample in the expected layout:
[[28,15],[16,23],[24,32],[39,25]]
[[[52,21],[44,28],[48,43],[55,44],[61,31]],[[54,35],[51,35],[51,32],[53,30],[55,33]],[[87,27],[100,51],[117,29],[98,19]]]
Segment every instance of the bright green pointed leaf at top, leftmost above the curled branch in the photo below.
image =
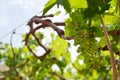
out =
[[56,0],[49,0],[44,6],[42,15],[45,15],[55,4]]

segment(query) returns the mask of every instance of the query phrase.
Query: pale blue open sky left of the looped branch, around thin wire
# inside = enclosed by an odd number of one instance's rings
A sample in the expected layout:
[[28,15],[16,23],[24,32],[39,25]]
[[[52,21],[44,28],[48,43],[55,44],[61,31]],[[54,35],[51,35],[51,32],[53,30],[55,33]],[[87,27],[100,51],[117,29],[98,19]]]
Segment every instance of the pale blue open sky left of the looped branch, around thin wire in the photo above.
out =
[[[38,12],[40,12],[44,4],[48,0],[0,0],[0,42],[8,42],[12,31],[21,23],[25,22]],[[17,29],[16,33],[22,34],[27,30],[27,23]],[[2,38],[5,35],[4,38]],[[16,35],[20,36],[20,35]],[[19,41],[16,38],[16,43]]]

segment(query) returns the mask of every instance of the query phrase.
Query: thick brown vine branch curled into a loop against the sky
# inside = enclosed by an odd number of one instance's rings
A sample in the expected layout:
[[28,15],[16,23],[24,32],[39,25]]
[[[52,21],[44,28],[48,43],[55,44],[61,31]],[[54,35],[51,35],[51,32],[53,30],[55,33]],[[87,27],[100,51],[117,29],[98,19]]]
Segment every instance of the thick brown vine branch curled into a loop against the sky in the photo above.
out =
[[[46,17],[53,17],[54,15],[50,14],[50,15],[44,15],[44,16],[34,16],[33,18],[30,19],[30,21],[28,22],[28,25],[30,27],[30,31],[26,34],[26,38],[25,38],[25,45],[27,46],[27,48],[29,49],[29,51],[38,59],[40,59],[41,61],[45,58],[45,56],[47,56],[50,53],[50,49],[45,47],[41,41],[39,40],[39,38],[36,36],[35,32],[41,28],[46,28],[46,27],[51,27],[53,30],[55,30],[58,34],[59,37],[66,39],[66,40],[70,40],[73,39],[73,37],[66,37],[64,35],[64,31],[60,28],[58,28],[57,26],[65,26],[64,22],[55,22],[53,23],[50,19],[42,19],[42,18],[46,18]],[[33,23],[35,24],[40,24],[37,27],[33,27]],[[32,34],[32,36],[34,37],[34,39],[37,41],[37,44],[39,46],[41,46],[44,50],[45,53],[42,56],[37,56],[36,53],[33,52],[33,50],[30,48],[30,45],[28,44],[28,40],[29,40],[29,36],[30,34]]]

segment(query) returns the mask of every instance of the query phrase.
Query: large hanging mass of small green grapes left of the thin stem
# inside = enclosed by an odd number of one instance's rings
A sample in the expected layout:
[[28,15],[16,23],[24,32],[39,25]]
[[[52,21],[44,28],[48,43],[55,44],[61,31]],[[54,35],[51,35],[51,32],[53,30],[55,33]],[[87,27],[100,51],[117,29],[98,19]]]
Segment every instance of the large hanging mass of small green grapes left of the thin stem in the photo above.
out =
[[[66,20],[65,32],[67,36],[74,37],[75,46],[79,45],[77,52],[82,56],[87,68],[99,69],[99,66],[103,65],[105,59],[101,58],[102,54],[99,48],[105,44],[105,40],[100,26],[88,26],[87,19],[84,19],[83,14],[75,11]],[[100,40],[96,40],[96,38]]]

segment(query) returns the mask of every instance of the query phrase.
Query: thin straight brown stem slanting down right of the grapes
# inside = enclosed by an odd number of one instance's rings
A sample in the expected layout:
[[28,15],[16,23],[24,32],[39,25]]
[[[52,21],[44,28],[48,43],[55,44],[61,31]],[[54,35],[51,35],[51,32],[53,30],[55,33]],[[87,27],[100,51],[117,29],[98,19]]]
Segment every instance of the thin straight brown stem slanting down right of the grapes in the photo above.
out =
[[115,62],[115,59],[114,59],[113,50],[112,50],[112,47],[111,47],[111,44],[110,44],[110,41],[109,41],[109,38],[108,38],[108,32],[105,28],[105,24],[104,24],[102,15],[100,15],[100,21],[101,21],[102,30],[104,32],[105,40],[106,40],[106,43],[107,43],[107,47],[108,47],[108,50],[110,51],[110,61],[111,61],[112,70],[113,70],[113,78],[114,78],[114,80],[117,80],[116,62]]

